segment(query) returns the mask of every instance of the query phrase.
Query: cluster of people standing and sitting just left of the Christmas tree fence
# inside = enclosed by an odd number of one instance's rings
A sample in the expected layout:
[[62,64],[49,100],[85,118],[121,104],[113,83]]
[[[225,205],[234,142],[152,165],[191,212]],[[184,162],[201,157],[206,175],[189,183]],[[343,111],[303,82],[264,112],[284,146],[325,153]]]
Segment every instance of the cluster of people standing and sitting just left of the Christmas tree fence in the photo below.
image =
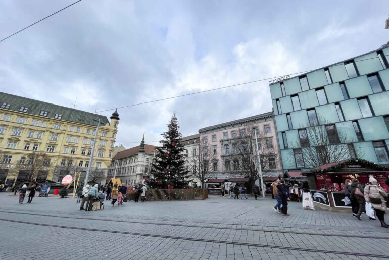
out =
[[[134,201],[138,202],[139,197],[141,196],[141,201],[144,202],[147,191],[146,186],[138,186],[134,187],[133,189],[135,190]],[[100,188],[98,184],[95,184],[92,187],[89,184],[85,185],[85,187],[83,186],[83,184],[81,184],[81,186],[77,190],[76,201],[76,203],[81,203],[80,211],[88,211],[90,203],[93,203],[94,199],[98,198],[99,191],[102,191],[101,194],[106,193],[106,200],[112,200],[112,207],[115,206],[115,203],[117,204],[117,206],[122,206],[123,202],[126,202],[124,201],[124,199],[127,195],[127,187],[124,184],[121,186],[119,186],[118,184],[114,184],[113,187],[109,184]],[[86,208],[84,208],[85,202],[87,202]]]

